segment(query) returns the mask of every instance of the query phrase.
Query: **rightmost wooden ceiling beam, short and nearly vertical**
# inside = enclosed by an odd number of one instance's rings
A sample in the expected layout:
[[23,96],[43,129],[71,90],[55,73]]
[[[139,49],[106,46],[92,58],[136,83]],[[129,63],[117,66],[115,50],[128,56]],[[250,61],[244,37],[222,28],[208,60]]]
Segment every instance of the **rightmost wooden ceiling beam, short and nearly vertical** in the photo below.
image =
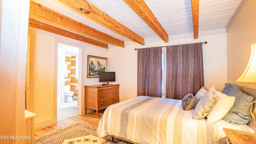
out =
[[191,0],[194,39],[198,38],[199,0]]

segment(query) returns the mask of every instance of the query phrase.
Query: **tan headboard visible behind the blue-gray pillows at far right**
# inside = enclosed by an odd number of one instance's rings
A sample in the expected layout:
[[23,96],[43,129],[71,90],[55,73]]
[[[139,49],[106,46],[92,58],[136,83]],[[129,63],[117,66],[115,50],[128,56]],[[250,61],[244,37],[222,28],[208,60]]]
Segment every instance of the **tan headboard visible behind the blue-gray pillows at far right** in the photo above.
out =
[[[228,83],[226,83],[225,84],[225,86],[227,86],[228,85]],[[231,84],[232,86],[234,85],[234,84]],[[246,88],[246,87],[244,87],[244,86],[239,86],[239,85],[237,85],[244,93],[246,93],[246,94],[248,94],[248,95],[250,95],[250,96],[252,96],[253,98],[254,98],[254,100],[256,100],[256,90],[254,90],[254,89],[252,89],[252,88]],[[256,108],[256,105],[254,104],[254,110],[255,110],[255,108]],[[256,125],[256,121],[252,118],[252,120],[251,120],[252,122],[253,122],[253,124],[254,125]],[[254,130],[254,132],[256,132],[256,127],[252,124],[252,122],[249,122],[249,124],[248,124],[248,126],[250,127],[250,128],[252,128],[252,130]]]

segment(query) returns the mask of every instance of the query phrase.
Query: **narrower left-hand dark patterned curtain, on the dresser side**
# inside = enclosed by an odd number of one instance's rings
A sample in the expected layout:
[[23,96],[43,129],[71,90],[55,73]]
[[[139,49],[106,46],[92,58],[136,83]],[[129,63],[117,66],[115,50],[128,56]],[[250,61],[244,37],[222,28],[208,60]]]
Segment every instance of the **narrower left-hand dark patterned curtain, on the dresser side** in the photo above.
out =
[[138,96],[161,97],[162,48],[138,49]]

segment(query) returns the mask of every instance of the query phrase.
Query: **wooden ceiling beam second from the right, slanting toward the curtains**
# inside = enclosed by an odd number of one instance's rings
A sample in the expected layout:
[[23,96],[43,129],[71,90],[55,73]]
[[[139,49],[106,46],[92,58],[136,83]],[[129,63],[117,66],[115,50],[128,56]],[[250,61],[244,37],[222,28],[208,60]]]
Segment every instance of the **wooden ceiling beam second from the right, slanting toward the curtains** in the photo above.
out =
[[140,16],[142,20],[164,41],[168,42],[168,34],[158,22],[153,12],[144,0],[123,0],[130,8]]

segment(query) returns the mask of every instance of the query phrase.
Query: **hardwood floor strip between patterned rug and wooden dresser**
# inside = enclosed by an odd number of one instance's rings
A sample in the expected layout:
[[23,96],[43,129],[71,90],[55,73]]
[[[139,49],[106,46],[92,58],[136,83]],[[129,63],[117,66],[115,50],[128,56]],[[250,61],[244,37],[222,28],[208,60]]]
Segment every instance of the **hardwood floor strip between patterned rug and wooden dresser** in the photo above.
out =
[[[104,109],[105,110],[105,109]],[[72,116],[70,118],[66,118],[64,120],[58,121],[57,124],[54,124],[52,126],[48,126],[46,128],[41,128],[39,130],[34,131],[34,138],[43,136],[45,134],[48,134],[54,130],[57,130],[59,128],[62,128],[64,126],[70,125],[74,122],[82,122],[84,124],[88,124],[90,126],[98,127],[98,122],[100,121],[100,118],[102,117],[104,110],[99,111],[99,117],[96,116],[96,112],[90,112],[85,115],[76,115]]]

